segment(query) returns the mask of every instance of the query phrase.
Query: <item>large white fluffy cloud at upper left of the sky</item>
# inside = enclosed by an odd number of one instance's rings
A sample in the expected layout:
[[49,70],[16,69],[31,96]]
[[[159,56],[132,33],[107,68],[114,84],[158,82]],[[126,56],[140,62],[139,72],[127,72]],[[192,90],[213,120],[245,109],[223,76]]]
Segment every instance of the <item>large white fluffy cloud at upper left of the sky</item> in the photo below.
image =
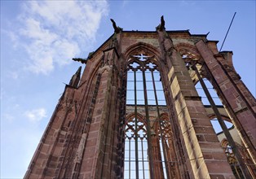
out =
[[48,74],[91,46],[100,20],[108,14],[106,1],[27,1],[16,33],[29,55],[25,69]]

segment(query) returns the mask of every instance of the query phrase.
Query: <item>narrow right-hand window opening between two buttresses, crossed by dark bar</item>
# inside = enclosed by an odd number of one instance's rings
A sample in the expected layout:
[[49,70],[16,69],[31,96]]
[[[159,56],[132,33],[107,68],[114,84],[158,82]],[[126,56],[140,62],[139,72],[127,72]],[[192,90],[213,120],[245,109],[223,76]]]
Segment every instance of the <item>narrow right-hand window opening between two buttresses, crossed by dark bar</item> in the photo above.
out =
[[[213,86],[210,84],[210,81],[207,81],[206,79],[201,79],[201,74],[198,70],[198,67],[200,67],[200,65],[194,65],[192,68],[191,66],[187,67],[193,81],[196,80],[196,78],[198,81],[200,81],[196,84],[196,90],[201,96],[201,101],[205,106],[205,110],[207,111],[208,116],[217,117],[214,118],[214,120],[211,120],[211,124],[213,125],[214,131],[218,137],[218,141],[221,142],[223,140],[228,140],[228,142],[232,144],[232,147],[230,147],[229,145],[223,147],[223,151],[227,156],[227,161],[232,168],[232,172],[234,173],[236,178],[245,178],[244,175],[247,175],[247,169],[249,168],[247,168],[247,166],[245,165],[245,156],[242,157],[243,153],[245,152],[242,152],[241,148],[244,147],[237,145],[237,142],[241,142],[241,138],[237,133],[236,129],[234,128],[233,124],[225,120],[226,118],[228,118],[228,115],[227,111],[223,107],[223,103],[219,99],[218,94],[216,94]],[[196,76],[192,72],[193,70],[194,72],[196,72]],[[203,72],[204,71],[201,71],[201,73]],[[230,119],[228,120],[232,121]],[[241,170],[241,168],[243,168],[243,170]],[[241,171],[244,171],[245,173]]]

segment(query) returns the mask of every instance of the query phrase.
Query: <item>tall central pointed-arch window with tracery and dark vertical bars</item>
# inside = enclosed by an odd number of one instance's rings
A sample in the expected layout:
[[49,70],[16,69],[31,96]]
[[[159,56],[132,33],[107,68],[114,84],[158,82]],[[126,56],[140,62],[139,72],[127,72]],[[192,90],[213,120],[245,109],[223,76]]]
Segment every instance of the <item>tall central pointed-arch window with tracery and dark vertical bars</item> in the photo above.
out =
[[174,146],[157,59],[136,53],[127,65],[124,178],[171,178]]

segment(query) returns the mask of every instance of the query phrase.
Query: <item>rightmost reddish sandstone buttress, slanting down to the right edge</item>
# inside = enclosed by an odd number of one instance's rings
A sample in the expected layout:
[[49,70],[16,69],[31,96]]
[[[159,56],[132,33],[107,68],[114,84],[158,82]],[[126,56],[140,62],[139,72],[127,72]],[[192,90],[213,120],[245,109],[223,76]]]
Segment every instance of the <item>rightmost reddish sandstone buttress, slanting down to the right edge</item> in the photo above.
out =
[[[232,122],[236,126],[246,149],[249,151],[251,159],[256,164],[256,133],[254,129],[256,119],[254,118],[254,114],[246,107],[246,103],[240,96],[241,92],[232,84],[231,79],[228,79],[228,76],[218,63],[218,60],[214,58],[214,54],[206,46],[205,42],[198,41],[196,47],[205,60],[205,68],[209,69],[210,80],[214,88],[218,91],[220,98],[222,98],[229,115],[232,116]],[[217,74],[218,77],[216,76]]]

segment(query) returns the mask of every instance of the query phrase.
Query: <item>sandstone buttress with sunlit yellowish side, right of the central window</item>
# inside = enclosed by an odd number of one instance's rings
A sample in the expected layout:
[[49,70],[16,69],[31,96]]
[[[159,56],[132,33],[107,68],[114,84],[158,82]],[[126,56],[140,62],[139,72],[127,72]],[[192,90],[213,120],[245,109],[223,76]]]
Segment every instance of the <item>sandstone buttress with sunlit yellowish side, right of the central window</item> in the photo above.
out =
[[158,31],[158,39],[162,59],[167,64],[163,76],[173,103],[170,106],[177,115],[171,120],[179,124],[180,138],[188,153],[188,168],[192,168],[188,171],[190,177],[235,178],[181,55],[164,30]]

